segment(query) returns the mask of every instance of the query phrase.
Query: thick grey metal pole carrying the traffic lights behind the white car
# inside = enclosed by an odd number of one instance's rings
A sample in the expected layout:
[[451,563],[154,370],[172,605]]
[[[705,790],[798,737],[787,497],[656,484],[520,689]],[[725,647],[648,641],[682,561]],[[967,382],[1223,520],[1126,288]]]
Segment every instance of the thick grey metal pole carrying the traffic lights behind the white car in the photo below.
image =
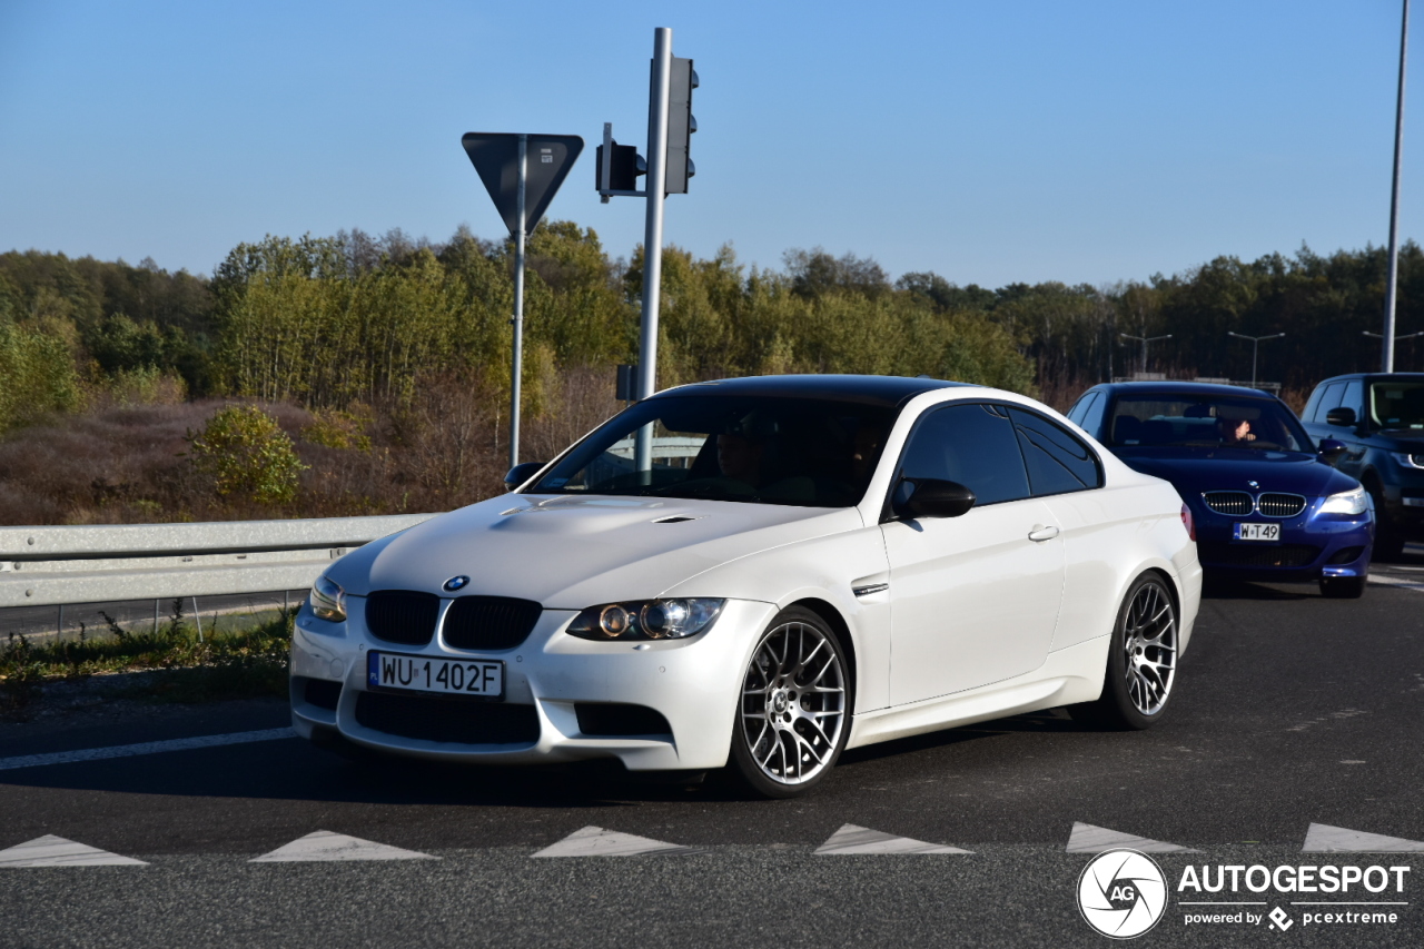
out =
[[[652,83],[648,95],[648,222],[642,239],[642,326],[638,339],[638,398],[658,390],[658,298],[662,291],[662,202],[668,182],[668,95],[672,85],[672,30],[652,31]],[[652,426],[638,429],[634,467],[652,472]]]

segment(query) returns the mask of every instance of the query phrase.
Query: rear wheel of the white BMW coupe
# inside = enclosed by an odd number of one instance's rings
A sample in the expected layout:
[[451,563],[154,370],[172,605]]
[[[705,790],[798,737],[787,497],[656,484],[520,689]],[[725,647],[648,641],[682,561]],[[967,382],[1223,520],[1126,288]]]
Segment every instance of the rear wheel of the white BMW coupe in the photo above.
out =
[[1075,721],[1112,731],[1162,721],[1176,683],[1179,624],[1166,580],[1145,573],[1128,588],[1108,645],[1098,701],[1069,705]]

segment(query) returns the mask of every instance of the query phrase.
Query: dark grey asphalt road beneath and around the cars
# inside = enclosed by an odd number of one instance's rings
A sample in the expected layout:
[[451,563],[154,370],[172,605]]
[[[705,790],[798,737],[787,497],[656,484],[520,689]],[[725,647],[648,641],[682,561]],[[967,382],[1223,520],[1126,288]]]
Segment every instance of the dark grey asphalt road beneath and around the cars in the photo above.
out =
[[[0,849],[56,835],[147,862],[4,868],[0,852],[0,946],[1104,945],[1078,909],[1078,824],[1198,851],[1153,854],[1169,905],[1141,945],[1420,946],[1424,845],[1302,854],[1312,825],[1424,841],[1424,557],[1377,576],[1393,583],[1358,601],[1213,588],[1152,731],[1061,711],[985,722],[847,752],[789,802],[716,781],[355,765],[290,738],[6,764],[281,728],[276,702],[0,727]],[[847,824],[970,852],[815,852]],[[691,849],[534,856],[590,826]],[[439,859],[251,862],[316,831]],[[1410,871],[1401,891],[1232,896],[1179,891],[1189,865]],[[1257,905],[1182,905],[1230,899]],[[1299,905],[1341,901],[1398,905]],[[1185,922],[1277,908],[1284,930]],[[1321,911],[1396,922],[1307,922]]]

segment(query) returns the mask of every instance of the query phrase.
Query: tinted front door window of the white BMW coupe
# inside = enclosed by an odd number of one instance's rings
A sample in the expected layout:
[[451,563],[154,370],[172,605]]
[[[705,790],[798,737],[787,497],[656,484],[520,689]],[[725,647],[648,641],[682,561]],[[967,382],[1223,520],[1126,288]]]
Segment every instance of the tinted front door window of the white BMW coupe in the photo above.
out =
[[1028,497],[1028,473],[1014,426],[995,406],[957,403],[920,419],[900,465],[903,477],[958,482],[975,506]]

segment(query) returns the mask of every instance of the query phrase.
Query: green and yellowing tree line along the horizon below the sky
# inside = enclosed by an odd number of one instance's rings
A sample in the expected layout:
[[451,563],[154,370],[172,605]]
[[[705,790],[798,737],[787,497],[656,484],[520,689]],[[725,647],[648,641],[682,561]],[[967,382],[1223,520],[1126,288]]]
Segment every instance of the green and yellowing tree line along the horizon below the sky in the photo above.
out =
[[[151,259],[0,254],[0,430],[114,393],[142,400],[242,396],[306,409],[409,405],[437,379],[508,392],[513,247],[466,229],[449,241],[268,237],[212,276]],[[1122,333],[1155,343],[1151,370],[1260,378],[1309,389],[1373,368],[1383,248],[1220,256],[1172,276],[1109,286],[960,286],[936,272],[891,279],[870,258],[790,251],[748,266],[731,245],[664,256],[659,385],[773,372],[931,375],[1058,402],[1141,368]],[[1424,258],[1400,258],[1398,332],[1421,328]],[[614,258],[591,228],[551,222],[528,242],[525,412],[560,410],[557,380],[637,358],[642,249]],[[1424,353],[1418,353],[1424,356]],[[1421,369],[1410,343],[1401,369]],[[162,383],[162,385],[161,385]],[[167,388],[164,388],[167,386]],[[175,395],[177,393],[177,395]]]

